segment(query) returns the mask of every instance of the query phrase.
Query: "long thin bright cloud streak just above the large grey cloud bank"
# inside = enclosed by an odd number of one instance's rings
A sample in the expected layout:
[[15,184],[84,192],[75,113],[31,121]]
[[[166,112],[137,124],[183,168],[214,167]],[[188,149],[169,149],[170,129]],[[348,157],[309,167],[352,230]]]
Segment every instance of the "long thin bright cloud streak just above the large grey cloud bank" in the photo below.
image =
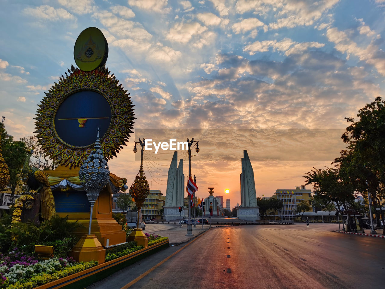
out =
[[254,55],[256,52],[266,52],[269,51],[270,47],[274,51],[285,52],[285,55],[290,55],[294,53],[303,52],[311,47],[320,48],[325,46],[323,43],[318,42],[302,42],[298,43],[292,41],[289,38],[285,38],[281,41],[277,40],[264,40],[264,41],[255,41],[249,45],[246,45],[243,51],[249,51],[250,55]]

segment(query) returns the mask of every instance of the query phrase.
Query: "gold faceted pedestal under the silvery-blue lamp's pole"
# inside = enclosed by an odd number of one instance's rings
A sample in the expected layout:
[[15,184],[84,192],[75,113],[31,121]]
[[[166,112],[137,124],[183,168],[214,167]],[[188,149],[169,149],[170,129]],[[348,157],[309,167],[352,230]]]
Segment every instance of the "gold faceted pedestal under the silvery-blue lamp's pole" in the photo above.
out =
[[99,264],[105,262],[105,249],[95,235],[84,235],[77,242],[68,255],[76,262],[98,261]]

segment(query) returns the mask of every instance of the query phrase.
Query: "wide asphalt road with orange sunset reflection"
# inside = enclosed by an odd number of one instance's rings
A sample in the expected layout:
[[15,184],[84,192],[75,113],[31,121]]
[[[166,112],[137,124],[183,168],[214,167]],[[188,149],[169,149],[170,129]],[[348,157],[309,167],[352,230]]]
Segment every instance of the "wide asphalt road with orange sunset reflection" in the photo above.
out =
[[385,239],[334,227],[217,227],[88,288],[385,288]]

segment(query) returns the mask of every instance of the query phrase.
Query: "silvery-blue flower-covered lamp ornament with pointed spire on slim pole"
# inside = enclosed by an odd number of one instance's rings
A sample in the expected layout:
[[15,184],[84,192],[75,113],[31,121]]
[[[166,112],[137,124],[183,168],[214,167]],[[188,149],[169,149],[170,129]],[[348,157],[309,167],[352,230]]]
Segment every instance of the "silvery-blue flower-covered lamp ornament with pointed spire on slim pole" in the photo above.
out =
[[90,225],[88,234],[91,234],[91,222],[92,222],[92,210],[94,208],[95,201],[99,197],[100,191],[107,185],[110,178],[110,171],[107,166],[107,161],[103,156],[99,139],[99,128],[97,129],[97,137],[94,145],[94,151],[89,155],[87,160],[79,170],[80,183],[84,186],[85,192],[87,192],[87,198],[90,202]]

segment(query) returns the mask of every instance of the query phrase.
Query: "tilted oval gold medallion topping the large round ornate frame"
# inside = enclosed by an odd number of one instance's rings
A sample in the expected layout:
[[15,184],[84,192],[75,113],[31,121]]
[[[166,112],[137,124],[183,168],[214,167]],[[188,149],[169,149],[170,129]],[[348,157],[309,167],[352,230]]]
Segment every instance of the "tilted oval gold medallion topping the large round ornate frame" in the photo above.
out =
[[92,71],[107,61],[108,44],[103,33],[96,27],[84,29],[76,39],[74,59],[82,71]]

